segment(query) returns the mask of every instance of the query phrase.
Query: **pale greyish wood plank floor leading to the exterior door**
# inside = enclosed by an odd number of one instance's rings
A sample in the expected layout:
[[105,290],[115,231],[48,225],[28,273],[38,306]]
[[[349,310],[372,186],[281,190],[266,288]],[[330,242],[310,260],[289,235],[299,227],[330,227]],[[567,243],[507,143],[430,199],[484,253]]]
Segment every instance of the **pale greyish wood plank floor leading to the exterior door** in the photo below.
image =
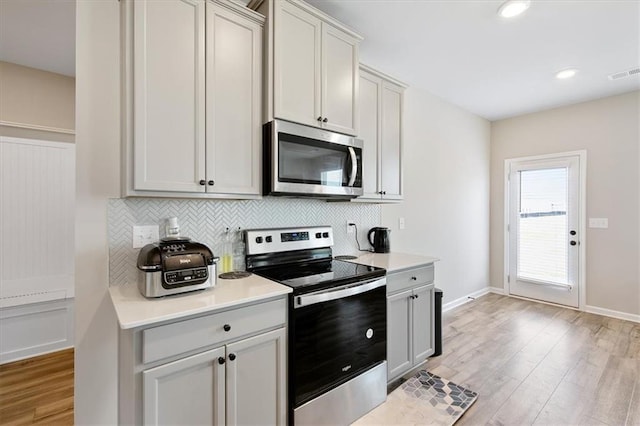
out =
[[640,425],[640,324],[488,294],[426,369],[479,393],[456,425]]

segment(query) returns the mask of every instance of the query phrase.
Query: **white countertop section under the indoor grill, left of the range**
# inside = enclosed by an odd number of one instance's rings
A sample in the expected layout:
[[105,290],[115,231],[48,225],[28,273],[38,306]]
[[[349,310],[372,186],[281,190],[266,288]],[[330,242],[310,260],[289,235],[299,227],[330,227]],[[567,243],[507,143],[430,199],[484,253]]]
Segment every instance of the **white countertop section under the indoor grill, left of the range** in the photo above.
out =
[[109,288],[122,329],[259,302],[291,291],[290,287],[253,274],[236,280],[219,278],[214,288],[157,299],[143,297],[136,285]]

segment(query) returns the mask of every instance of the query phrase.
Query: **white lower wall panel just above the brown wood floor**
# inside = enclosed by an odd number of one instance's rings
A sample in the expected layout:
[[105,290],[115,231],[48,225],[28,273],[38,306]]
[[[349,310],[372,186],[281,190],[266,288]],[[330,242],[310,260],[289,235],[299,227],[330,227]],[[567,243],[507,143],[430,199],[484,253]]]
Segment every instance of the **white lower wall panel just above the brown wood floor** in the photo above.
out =
[[0,309],[0,364],[74,345],[74,299]]

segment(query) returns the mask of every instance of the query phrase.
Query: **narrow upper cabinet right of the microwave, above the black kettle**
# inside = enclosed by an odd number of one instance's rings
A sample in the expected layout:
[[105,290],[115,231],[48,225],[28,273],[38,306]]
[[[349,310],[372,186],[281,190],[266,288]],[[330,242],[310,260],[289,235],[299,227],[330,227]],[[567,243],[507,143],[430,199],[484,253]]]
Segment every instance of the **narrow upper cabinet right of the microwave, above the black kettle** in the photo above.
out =
[[364,141],[363,190],[353,201],[402,200],[402,109],[405,85],[360,68],[360,134]]

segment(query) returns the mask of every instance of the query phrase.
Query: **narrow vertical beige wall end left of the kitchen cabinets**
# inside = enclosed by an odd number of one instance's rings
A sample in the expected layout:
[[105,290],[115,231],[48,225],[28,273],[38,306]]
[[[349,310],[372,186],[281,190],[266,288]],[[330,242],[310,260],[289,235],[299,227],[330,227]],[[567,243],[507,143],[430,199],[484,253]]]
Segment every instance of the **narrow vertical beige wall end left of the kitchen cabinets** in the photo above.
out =
[[117,424],[107,202],[120,196],[120,5],[76,4],[75,424]]

